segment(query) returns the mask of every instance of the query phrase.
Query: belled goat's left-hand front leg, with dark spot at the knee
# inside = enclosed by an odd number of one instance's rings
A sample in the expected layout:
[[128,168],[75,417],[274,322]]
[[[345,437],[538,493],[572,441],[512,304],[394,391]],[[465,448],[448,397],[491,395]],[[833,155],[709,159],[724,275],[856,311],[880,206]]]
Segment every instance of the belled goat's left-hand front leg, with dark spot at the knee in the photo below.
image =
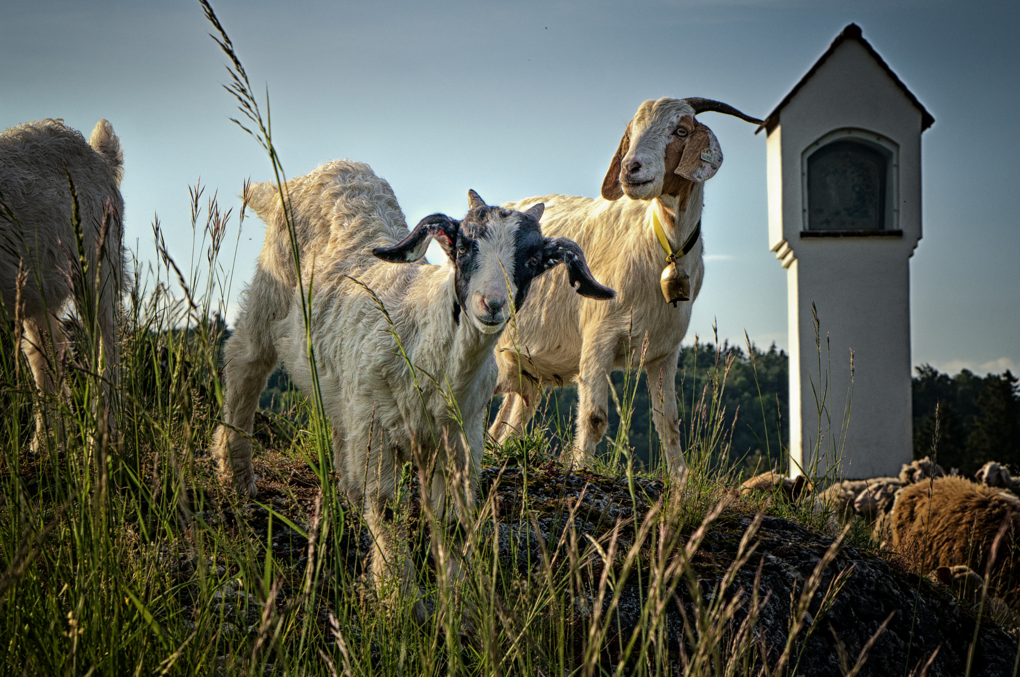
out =
[[[600,335],[601,334],[601,335]],[[596,327],[585,332],[577,374],[577,429],[572,460],[583,464],[595,457],[596,447],[609,426],[609,374],[613,369],[618,337]]]

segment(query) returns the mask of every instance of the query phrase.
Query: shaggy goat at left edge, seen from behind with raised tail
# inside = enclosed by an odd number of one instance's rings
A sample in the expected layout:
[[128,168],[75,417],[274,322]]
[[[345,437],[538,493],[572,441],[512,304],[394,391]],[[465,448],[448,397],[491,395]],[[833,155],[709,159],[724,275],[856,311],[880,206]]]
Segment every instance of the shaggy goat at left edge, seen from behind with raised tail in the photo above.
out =
[[[106,120],[96,123],[88,143],[62,120],[27,122],[0,132],[0,293],[7,318],[21,318],[21,349],[43,393],[53,392],[66,350],[58,315],[72,296],[82,300],[74,294],[82,281],[68,176],[91,271],[103,252],[97,320],[106,376],[116,378],[116,307],[126,282],[122,172],[120,142]],[[91,287],[96,279],[90,276],[86,283]],[[79,313],[85,315],[81,307]],[[55,364],[50,362],[54,357]],[[37,412],[35,448],[45,435],[45,418]]]

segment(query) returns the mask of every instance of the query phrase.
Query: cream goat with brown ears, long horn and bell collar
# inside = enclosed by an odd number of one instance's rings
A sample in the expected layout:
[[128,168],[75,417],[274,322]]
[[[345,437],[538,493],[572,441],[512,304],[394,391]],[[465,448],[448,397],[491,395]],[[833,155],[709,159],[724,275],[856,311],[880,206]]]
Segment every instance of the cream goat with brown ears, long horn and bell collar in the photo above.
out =
[[[593,273],[618,296],[609,303],[577,298],[560,273],[536,283],[536,300],[518,315],[516,328],[503,335],[497,348],[497,392],[506,393],[490,428],[498,441],[522,429],[546,388],[575,379],[579,402],[573,457],[591,457],[609,421],[607,377],[625,368],[647,337],[645,370],[655,428],[671,472],[685,476],[674,379],[704,271],[704,181],[722,163],[715,134],[695,119],[707,111],[761,122],[707,99],[646,101],[627,124],[602,198],[545,195],[505,205],[526,210],[544,203],[545,231],[576,240]],[[660,276],[667,256],[655,233],[655,218],[690,274],[691,302],[676,306],[663,298]]]

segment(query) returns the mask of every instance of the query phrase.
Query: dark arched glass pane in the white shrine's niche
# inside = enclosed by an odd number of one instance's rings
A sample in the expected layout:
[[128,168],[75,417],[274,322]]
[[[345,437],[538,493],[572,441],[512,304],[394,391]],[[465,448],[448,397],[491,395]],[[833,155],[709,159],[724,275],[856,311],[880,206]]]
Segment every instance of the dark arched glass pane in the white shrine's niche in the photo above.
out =
[[808,158],[809,230],[885,228],[885,171],[877,149],[839,140]]

